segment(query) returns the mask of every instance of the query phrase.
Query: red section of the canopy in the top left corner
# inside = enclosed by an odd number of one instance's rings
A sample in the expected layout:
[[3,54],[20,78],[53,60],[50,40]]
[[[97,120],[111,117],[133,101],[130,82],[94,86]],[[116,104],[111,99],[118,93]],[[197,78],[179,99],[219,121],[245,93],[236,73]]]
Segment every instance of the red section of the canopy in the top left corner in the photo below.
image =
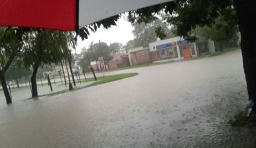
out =
[[75,0],[0,0],[0,25],[74,30]]

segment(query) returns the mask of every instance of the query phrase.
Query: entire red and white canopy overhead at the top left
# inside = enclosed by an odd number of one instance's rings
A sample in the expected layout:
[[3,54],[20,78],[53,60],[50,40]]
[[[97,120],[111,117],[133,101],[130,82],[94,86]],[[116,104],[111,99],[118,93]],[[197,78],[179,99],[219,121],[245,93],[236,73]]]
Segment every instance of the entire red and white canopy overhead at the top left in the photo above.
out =
[[0,0],[0,25],[71,31],[169,1],[174,0]]

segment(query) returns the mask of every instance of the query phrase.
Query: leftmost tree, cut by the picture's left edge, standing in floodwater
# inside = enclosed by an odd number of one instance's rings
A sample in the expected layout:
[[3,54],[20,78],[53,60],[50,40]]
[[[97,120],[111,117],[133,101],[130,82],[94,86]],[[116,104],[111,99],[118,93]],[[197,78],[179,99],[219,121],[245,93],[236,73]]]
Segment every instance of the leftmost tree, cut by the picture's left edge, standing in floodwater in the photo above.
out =
[[14,58],[22,51],[24,30],[21,28],[0,27],[0,79],[7,104],[11,104],[12,99],[8,91],[5,75]]

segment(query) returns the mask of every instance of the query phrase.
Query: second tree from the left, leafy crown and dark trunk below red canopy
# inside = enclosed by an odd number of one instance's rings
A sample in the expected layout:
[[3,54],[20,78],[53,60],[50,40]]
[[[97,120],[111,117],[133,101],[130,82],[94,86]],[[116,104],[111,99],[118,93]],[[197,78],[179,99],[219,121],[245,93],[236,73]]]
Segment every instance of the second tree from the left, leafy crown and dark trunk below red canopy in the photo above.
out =
[[27,35],[29,45],[23,53],[24,64],[32,67],[32,97],[38,97],[37,71],[40,66],[58,64],[69,56],[69,47],[74,47],[73,35],[53,30],[34,30]]

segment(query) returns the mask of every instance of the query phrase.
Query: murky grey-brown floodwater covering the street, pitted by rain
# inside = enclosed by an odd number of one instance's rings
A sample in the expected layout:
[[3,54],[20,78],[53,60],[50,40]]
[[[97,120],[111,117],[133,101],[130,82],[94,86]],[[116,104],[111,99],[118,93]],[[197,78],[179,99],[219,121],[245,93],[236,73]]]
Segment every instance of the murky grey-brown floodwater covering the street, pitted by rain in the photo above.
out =
[[[0,105],[0,147],[256,147],[240,51],[109,72],[135,77]],[[2,98],[3,99],[3,98]]]

